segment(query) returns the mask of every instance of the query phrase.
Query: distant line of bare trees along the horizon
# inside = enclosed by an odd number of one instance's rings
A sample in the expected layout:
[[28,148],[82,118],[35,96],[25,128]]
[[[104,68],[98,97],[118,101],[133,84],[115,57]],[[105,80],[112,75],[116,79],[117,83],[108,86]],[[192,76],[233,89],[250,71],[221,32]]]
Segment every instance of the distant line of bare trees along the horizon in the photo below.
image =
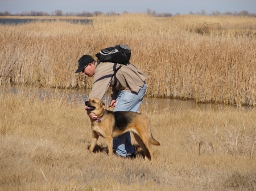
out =
[[[129,12],[123,11],[122,14],[128,14]],[[147,9],[147,14],[151,16],[157,16],[157,17],[170,17],[173,16],[170,12],[162,12],[158,13],[154,10]],[[250,13],[248,11],[240,11],[240,12],[220,12],[220,11],[212,11],[211,14],[208,14],[207,11],[201,10],[200,12],[189,12],[191,15],[230,15],[230,16],[254,16],[256,17],[256,13]],[[113,16],[113,15],[119,15],[118,13],[115,13],[114,11],[111,12],[101,12],[101,11],[94,11],[94,12],[88,12],[88,11],[82,11],[82,12],[63,12],[61,10],[55,10],[49,14],[48,12],[43,11],[23,11],[22,13],[16,13],[11,14],[10,11],[4,11],[0,12],[0,16],[85,16],[85,17],[91,17],[91,16],[99,16],[99,15],[105,15],[105,16]],[[181,15],[179,12],[177,12],[175,15]]]

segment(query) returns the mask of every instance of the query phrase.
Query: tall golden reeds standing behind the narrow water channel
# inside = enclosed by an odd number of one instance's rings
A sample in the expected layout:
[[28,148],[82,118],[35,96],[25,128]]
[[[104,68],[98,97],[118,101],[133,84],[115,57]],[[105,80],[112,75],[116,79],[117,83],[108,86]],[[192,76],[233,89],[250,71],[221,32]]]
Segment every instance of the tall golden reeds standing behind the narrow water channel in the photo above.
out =
[[89,19],[92,25],[61,20],[1,25],[1,84],[90,88],[91,80],[74,73],[79,57],[123,43],[131,47],[131,62],[148,75],[147,96],[255,105],[256,18],[122,14]]

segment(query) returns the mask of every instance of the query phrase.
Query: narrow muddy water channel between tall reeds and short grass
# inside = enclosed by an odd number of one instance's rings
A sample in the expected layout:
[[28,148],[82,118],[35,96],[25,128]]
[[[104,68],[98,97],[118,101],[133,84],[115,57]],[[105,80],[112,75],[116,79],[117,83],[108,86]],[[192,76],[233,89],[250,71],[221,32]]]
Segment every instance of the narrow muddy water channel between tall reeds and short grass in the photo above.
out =
[[[57,88],[35,88],[35,87],[24,87],[24,86],[2,86],[0,88],[0,94],[3,92],[11,91],[14,94],[23,92],[28,96],[38,96],[42,99],[47,97],[63,97],[68,99],[72,104],[84,105],[84,102],[88,99],[90,90],[71,90],[71,89],[57,89]],[[110,103],[110,96],[106,94],[103,98],[107,103]],[[225,104],[214,104],[214,103],[196,103],[195,100],[180,100],[180,99],[168,99],[168,98],[156,98],[156,97],[147,97],[145,96],[142,102],[141,107],[145,107],[148,110],[155,112],[164,112],[164,111],[184,111],[188,109],[196,109],[199,111],[224,111],[226,109],[242,109],[244,111],[255,111],[256,108],[253,106],[242,106],[235,107],[232,105]]]

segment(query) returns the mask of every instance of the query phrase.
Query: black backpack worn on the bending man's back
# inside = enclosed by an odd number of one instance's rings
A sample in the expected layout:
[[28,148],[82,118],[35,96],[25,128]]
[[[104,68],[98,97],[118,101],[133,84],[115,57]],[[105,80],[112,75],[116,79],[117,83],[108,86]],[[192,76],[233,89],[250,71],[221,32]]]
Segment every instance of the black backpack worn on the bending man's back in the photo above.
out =
[[96,54],[98,63],[100,62],[113,62],[127,65],[131,58],[131,49],[125,44],[110,46],[109,48],[102,49]]

